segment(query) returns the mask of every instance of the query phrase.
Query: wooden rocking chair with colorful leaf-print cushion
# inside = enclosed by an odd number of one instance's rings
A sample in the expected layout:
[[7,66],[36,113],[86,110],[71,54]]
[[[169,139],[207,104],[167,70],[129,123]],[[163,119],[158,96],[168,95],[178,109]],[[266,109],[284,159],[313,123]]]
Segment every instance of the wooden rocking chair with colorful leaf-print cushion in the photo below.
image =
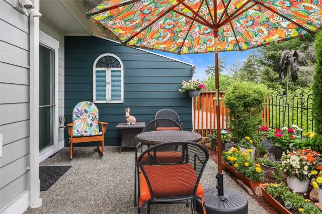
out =
[[[99,130],[102,125],[102,132]],[[108,123],[99,122],[99,110],[89,101],[78,102],[72,111],[72,124],[67,124],[70,136],[70,159],[74,143],[97,141],[99,153],[104,155],[104,134]],[[100,148],[102,146],[102,148]]]

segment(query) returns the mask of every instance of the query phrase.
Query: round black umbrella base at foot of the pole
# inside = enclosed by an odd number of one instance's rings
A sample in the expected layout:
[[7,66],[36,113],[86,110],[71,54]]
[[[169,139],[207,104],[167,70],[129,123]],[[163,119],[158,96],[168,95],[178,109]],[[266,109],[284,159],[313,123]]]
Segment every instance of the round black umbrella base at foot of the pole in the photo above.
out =
[[[216,188],[209,188],[204,191],[204,205],[207,214],[248,213],[248,201],[245,195],[230,189],[224,189],[224,196],[221,197],[217,195],[218,190]],[[199,214],[204,214],[202,202],[199,198],[196,201],[196,208]]]

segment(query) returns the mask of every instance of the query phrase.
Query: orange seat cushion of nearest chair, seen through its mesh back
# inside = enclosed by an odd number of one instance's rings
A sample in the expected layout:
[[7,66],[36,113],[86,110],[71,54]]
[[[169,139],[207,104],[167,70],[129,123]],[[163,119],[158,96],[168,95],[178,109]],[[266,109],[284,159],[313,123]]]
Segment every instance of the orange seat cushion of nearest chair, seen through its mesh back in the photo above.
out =
[[[143,166],[151,185],[153,196],[169,198],[193,195],[197,182],[197,174],[191,164]],[[203,197],[201,183],[198,184],[196,195]],[[150,190],[141,171],[139,206],[151,199]]]

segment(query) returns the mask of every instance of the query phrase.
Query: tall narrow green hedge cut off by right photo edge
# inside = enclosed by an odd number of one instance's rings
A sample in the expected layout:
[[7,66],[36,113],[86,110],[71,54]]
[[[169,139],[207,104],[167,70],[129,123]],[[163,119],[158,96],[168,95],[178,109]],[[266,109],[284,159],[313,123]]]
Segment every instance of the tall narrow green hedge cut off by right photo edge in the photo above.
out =
[[314,127],[317,134],[322,134],[322,32],[315,38],[316,67],[313,84]]

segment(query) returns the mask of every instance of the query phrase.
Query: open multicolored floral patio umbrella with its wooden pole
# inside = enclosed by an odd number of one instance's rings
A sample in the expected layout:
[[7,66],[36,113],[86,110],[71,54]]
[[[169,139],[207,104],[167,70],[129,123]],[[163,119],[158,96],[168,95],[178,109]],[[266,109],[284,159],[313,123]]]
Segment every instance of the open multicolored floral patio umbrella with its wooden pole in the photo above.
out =
[[[220,151],[218,51],[244,51],[316,33],[322,24],[322,1],[111,0],[86,17],[123,45],[175,54],[215,53]],[[221,161],[218,153],[220,200],[224,196]]]

